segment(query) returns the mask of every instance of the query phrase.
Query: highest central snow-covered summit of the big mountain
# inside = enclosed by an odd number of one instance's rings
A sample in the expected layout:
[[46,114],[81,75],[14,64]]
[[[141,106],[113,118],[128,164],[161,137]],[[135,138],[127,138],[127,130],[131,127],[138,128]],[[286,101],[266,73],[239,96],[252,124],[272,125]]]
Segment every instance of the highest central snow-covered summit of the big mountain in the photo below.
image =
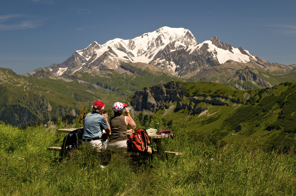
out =
[[170,48],[166,48],[167,52],[171,52],[196,43],[198,41],[189,30],[165,26],[134,39],[113,39],[103,44],[102,47],[114,48],[119,58],[126,58],[132,62],[149,63],[167,45],[170,45]]

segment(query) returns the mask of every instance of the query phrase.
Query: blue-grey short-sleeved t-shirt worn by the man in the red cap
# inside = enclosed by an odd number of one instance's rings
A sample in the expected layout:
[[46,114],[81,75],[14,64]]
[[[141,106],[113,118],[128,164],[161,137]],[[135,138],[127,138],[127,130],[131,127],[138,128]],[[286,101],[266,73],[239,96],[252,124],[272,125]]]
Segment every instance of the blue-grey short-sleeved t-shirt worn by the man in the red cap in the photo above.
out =
[[103,129],[108,129],[105,117],[98,113],[88,113],[84,119],[82,139],[101,138]]

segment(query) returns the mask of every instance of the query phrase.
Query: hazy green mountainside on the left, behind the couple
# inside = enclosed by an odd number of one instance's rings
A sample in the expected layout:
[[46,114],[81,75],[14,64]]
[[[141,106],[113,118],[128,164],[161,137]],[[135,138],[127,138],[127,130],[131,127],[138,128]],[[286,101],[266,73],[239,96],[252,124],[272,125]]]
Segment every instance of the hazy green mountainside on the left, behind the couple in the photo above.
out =
[[39,70],[31,77],[0,68],[0,120],[14,126],[66,117],[73,123],[82,105],[102,100],[107,107],[124,100],[146,85],[176,78],[149,64],[122,64],[118,70],[98,74],[75,73],[54,77]]

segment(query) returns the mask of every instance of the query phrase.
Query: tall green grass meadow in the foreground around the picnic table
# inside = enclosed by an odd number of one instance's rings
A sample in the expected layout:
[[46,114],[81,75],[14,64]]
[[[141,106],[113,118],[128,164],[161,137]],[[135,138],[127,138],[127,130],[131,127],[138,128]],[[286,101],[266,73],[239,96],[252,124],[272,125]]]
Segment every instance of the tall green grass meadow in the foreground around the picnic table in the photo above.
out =
[[193,142],[182,125],[176,138],[163,140],[181,157],[153,158],[136,166],[115,155],[102,169],[102,157],[80,149],[69,159],[46,151],[64,134],[41,126],[25,129],[0,123],[0,195],[295,195],[295,150],[288,154],[253,151],[244,143],[215,148]]

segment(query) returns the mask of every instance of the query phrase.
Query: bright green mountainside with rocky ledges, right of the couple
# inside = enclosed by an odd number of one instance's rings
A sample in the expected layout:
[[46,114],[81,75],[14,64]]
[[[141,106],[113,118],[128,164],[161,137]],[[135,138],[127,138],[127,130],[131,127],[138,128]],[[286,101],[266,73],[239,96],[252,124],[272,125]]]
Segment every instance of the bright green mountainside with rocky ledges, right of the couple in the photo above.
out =
[[[163,96],[153,92],[158,86],[150,88],[155,99],[150,97],[148,104]],[[213,82],[171,82],[163,86],[171,86],[165,96],[175,91],[180,97],[162,104],[156,101],[159,110],[153,115],[166,125],[186,123],[191,135],[207,137],[220,146],[233,141],[267,149],[295,144],[296,82],[256,90],[236,90]],[[132,100],[129,98],[130,103]],[[139,117],[144,119],[147,110],[138,113]]]

